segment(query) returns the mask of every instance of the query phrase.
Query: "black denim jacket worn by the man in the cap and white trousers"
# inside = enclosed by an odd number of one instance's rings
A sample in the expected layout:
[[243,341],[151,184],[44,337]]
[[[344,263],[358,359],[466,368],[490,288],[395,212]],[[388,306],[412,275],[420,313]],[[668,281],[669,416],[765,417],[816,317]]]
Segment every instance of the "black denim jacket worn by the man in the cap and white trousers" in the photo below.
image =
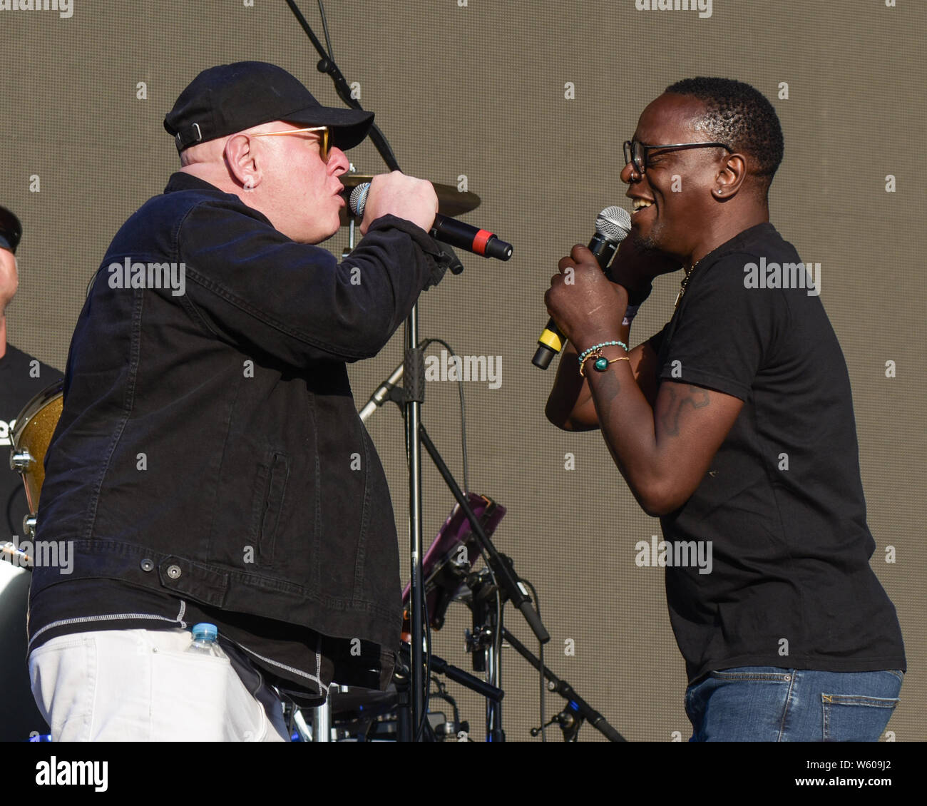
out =
[[[152,288],[167,275],[133,266],[149,262],[176,263],[184,293]],[[396,527],[346,362],[375,355],[450,262],[384,216],[338,263],[171,176],[113,239],[71,340],[36,539],[73,541],[75,559],[34,569],[32,595],[118,579],[398,646]]]

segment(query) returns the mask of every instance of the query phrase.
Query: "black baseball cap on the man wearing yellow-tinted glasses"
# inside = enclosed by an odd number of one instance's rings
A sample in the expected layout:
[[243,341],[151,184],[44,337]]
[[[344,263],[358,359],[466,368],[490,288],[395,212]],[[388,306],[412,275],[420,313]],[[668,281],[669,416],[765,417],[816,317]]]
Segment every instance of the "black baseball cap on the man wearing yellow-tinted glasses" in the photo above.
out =
[[374,113],[324,107],[283,68],[236,61],[203,70],[187,84],[164,116],[164,128],[183,151],[270,121],[328,126],[332,144],[345,151],[367,136]]

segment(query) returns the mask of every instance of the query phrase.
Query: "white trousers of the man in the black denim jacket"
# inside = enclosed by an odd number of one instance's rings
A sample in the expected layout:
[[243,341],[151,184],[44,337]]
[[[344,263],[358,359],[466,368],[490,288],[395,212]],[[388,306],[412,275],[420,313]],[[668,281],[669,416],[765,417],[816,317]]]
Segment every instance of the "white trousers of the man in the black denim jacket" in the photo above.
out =
[[33,650],[52,741],[288,741],[273,689],[248,691],[228,659],[185,652],[192,640],[180,628],[99,630]]

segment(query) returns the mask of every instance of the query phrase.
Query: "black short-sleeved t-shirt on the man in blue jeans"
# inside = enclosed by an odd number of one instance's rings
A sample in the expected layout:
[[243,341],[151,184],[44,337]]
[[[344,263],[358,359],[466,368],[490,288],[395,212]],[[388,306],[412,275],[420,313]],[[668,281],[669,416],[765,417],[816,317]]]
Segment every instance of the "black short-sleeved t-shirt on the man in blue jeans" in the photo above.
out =
[[799,262],[771,224],[745,230],[698,262],[654,337],[661,382],[743,400],[695,493],[660,518],[667,544],[689,544],[679,565],[667,556],[666,583],[690,683],[735,666],[906,668],[895,608],[869,564],[844,355],[819,289],[781,273]]

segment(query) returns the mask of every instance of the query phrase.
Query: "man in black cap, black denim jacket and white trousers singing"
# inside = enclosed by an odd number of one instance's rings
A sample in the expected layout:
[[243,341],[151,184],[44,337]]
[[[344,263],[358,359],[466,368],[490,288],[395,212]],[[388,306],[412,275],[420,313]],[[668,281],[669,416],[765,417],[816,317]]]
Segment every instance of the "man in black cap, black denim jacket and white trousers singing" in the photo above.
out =
[[[103,259],[46,463],[38,539],[75,555],[32,582],[53,739],[286,740],[269,684],[301,704],[387,684],[397,536],[346,363],[451,257],[434,188],[400,173],[345,262],[313,246],[372,118],[262,62],[205,70],[165,118],[182,168]],[[197,621],[231,664],[185,651]]]

